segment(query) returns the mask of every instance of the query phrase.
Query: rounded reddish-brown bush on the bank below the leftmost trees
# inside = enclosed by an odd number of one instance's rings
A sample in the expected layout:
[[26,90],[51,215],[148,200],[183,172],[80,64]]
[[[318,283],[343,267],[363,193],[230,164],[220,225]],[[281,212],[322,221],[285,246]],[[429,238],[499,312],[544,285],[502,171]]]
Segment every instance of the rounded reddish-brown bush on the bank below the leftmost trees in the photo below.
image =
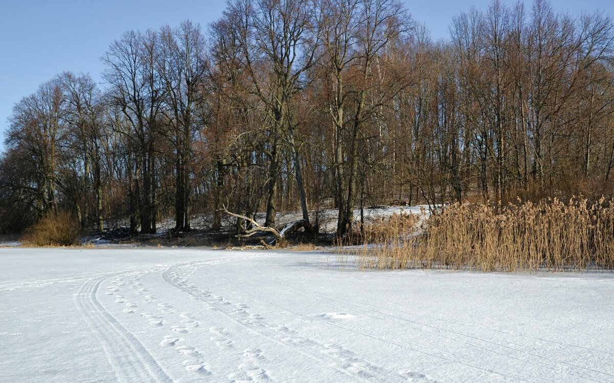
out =
[[79,243],[79,222],[71,213],[62,211],[39,219],[26,230],[26,246],[72,246]]

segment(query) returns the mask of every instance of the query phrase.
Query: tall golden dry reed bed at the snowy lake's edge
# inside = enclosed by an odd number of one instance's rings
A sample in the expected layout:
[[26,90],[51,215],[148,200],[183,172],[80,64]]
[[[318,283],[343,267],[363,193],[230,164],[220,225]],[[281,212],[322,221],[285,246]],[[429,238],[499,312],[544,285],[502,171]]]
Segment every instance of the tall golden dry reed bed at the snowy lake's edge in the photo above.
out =
[[572,198],[500,205],[455,204],[414,237],[386,233],[365,247],[363,267],[481,271],[614,269],[614,201]]

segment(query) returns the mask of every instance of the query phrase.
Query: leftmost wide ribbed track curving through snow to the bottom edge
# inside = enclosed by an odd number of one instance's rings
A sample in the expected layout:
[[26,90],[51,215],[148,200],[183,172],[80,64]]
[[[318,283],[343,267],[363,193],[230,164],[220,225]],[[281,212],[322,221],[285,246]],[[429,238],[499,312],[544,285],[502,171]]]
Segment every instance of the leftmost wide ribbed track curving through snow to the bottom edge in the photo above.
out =
[[173,380],[155,358],[96,299],[100,283],[108,277],[84,283],[74,295],[85,322],[103,345],[119,382],[168,382]]

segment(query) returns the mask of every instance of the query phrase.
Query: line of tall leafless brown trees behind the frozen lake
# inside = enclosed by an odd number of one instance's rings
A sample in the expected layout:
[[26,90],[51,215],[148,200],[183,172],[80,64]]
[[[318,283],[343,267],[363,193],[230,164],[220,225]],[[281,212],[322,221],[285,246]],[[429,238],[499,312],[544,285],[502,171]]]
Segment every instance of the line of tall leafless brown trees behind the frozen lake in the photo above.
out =
[[206,31],[125,32],[101,85],[65,72],[17,102],[0,225],[338,208],[344,235],[372,203],[612,195],[613,48],[608,15],[545,0],[468,10],[439,41],[397,0],[230,0]]

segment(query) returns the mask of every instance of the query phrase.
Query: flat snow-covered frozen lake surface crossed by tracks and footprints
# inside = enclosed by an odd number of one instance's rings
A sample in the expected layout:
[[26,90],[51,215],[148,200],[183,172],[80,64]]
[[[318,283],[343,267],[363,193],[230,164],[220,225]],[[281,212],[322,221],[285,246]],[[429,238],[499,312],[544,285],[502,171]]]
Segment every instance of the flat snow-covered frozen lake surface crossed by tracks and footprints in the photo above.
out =
[[0,249],[2,382],[614,382],[614,275]]

